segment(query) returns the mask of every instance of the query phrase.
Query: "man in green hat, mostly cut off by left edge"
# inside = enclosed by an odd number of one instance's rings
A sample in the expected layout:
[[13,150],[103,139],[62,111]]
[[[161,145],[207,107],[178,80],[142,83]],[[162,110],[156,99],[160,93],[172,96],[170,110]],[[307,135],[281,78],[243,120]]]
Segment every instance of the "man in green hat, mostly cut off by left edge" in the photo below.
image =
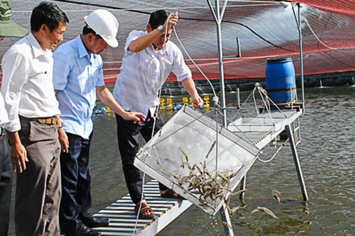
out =
[[[11,4],[7,0],[0,1],[0,42],[4,37],[24,37],[28,30],[22,28],[11,19]],[[12,164],[10,152],[5,138],[5,127],[8,113],[4,98],[0,94],[0,235],[8,235],[9,213],[12,185]]]

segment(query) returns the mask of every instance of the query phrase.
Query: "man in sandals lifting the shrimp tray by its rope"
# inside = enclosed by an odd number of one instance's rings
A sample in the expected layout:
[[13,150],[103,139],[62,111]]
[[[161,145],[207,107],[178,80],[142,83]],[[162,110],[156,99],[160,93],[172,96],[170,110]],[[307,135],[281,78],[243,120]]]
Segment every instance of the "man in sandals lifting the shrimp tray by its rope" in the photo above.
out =
[[[126,122],[116,114],[123,171],[129,194],[133,203],[136,204],[135,211],[140,218],[151,218],[155,214],[144,201],[142,178],[139,170],[133,165],[134,156],[138,150],[138,135],[141,133],[148,141],[152,133],[157,133],[163,126],[158,108],[158,94],[169,73],[173,72],[177,81],[182,83],[191,96],[195,108],[203,104],[192,80],[191,70],[184,62],[182,52],[169,41],[177,18],[177,12],[169,15],[165,10],[158,10],[151,14],[146,32],[138,30],[130,32],[126,40],[120,74],[113,92],[115,99],[125,110],[138,111],[147,117],[145,122],[138,125]],[[159,188],[163,197],[181,198],[180,195],[162,184],[159,184]]]

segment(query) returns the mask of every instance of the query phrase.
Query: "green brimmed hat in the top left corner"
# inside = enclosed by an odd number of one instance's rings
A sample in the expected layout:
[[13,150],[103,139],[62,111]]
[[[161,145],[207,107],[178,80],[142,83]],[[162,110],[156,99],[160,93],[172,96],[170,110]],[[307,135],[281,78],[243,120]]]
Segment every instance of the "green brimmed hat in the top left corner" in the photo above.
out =
[[11,19],[11,4],[7,0],[0,0],[0,36],[23,37],[28,30],[19,26]]

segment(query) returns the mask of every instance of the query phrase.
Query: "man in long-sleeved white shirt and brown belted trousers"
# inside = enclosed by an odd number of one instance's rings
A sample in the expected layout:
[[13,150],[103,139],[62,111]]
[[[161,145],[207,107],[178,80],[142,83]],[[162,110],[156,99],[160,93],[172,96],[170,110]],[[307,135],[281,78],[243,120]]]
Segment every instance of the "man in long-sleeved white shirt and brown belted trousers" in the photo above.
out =
[[17,172],[16,235],[59,235],[60,111],[51,50],[63,40],[67,22],[57,5],[42,2],[32,11],[31,33],[11,46],[2,60],[6,131]]

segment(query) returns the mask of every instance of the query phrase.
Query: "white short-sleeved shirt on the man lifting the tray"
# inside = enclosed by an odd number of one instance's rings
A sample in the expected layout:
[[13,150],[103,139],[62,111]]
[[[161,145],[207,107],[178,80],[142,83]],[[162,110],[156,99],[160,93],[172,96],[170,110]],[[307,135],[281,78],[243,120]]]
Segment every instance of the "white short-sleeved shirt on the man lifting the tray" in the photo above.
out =
[[171,41],[158,51],[153,45],[138,53],[128,51],[129,44],[145,34],[147,32],[137,30],[130,32],[113,95],[125,110],[147,115],[150,108],[159,105],[158,92],[170,72],[176,75],[177,81],[192,74],[182,52]]

